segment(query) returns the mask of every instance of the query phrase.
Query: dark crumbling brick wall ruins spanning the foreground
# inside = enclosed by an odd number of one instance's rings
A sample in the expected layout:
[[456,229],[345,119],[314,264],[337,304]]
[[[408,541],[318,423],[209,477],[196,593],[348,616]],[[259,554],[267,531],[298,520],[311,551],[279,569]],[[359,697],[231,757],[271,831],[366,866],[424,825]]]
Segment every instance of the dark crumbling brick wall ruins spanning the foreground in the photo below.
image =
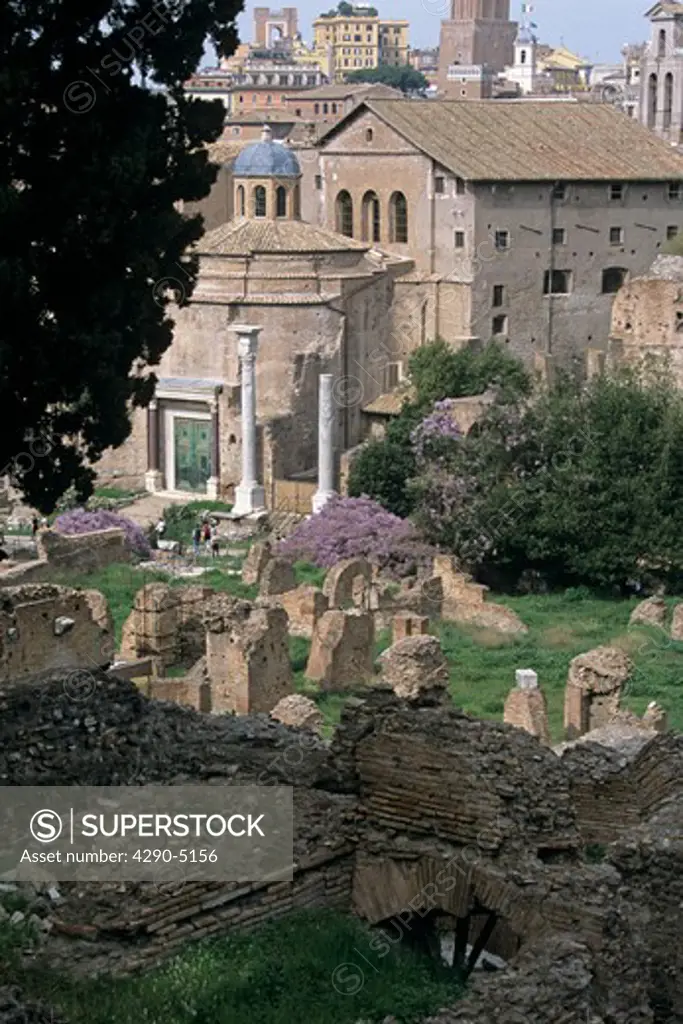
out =
[[[379,685],[349,700],[330,745],[267,716],[207,717],[93,678],[87,727],[58,681],[0,686],[4,784],[291,784],[295,878],[128,886],[116,903],[92,886],[70,900],[63,885],[45,955],[131,970],[296,907],[352,909],[407,935],[438,913],[508,967],[433,1024],[683,1021],[683,737],[658,735],[633,757],[592,743],[560,757],[433,688],[409,700]],[[599,814],[607,793],[614,813]],[[596,836],[611,844],[602,862],[586,855]]]

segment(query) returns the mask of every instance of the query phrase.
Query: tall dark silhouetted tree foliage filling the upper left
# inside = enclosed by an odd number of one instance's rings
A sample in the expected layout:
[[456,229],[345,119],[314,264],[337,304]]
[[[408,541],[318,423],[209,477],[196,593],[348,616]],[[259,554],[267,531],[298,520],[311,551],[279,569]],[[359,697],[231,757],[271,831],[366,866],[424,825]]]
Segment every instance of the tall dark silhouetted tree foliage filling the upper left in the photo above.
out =
[[[0,473],[49,511],[130,432],[188,301],[224,111],[183,93],[241,0],[6,0],[0,9]],[[135,368],[135,373],[131,369]]]

